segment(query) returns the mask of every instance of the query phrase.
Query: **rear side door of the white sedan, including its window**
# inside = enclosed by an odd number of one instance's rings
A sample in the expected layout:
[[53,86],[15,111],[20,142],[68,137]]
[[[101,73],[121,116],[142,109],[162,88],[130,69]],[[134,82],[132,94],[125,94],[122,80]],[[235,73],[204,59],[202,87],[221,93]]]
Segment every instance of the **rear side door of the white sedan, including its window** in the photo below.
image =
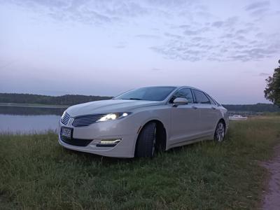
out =
[[219,118],[218,107],[204,92],[193,90],[193,94],[195,95],[197,108],[200,110],[201,132],[203,136],[212,134],[216,129]]

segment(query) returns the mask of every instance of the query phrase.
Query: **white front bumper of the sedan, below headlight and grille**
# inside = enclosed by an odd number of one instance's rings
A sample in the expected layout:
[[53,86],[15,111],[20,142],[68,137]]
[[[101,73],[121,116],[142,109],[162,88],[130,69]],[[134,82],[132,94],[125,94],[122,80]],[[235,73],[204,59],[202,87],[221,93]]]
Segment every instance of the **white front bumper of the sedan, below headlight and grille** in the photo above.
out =
[[[71,141],[65,141],[59,134],[59,144],[64,148],[115,158],[134,157],[139,128],[138,125],[127,123],[126,120],[93,123],[86,127],[65,126],[59,122],[59,131],[61,127],[73,129]],[[100,146],[99,142],[106,139],[120,139],[120,141],[118,144]]]

